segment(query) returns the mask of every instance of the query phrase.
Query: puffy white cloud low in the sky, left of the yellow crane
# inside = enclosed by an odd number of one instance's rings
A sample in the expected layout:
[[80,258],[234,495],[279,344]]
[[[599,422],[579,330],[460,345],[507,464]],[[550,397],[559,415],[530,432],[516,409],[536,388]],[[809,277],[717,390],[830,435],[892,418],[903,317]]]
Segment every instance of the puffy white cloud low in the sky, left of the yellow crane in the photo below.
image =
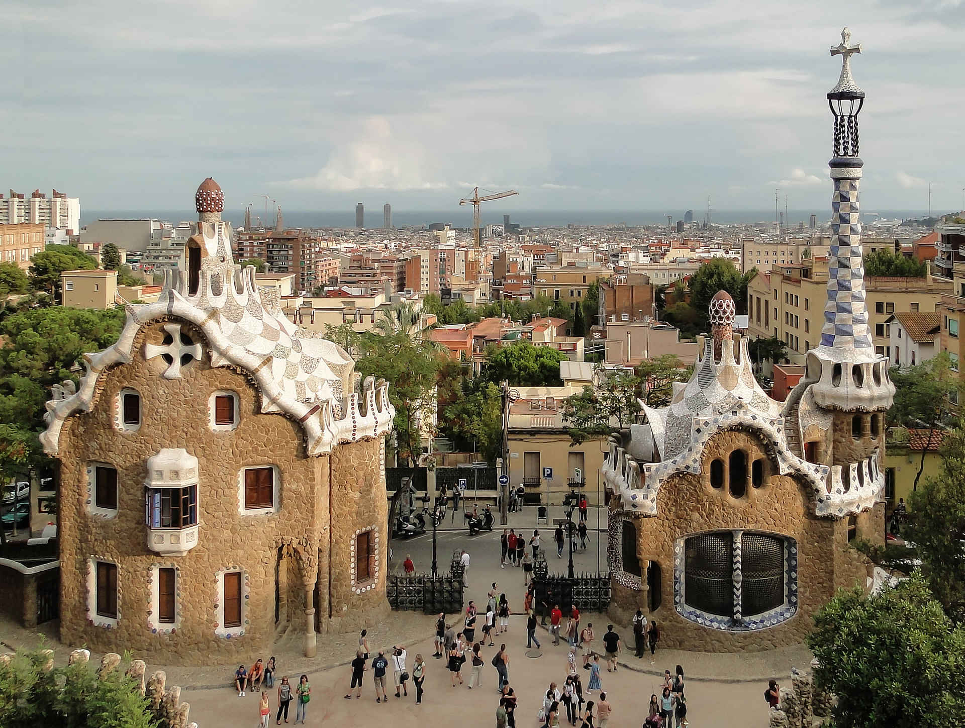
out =
[[414,139],[400,139],[384,117],[370,117],[350,139],[334,140],[327,164],[312,177],[273,185],[295,189],[350,192],[356,189],[445,189],[447,182],[423,174],[425,154]]

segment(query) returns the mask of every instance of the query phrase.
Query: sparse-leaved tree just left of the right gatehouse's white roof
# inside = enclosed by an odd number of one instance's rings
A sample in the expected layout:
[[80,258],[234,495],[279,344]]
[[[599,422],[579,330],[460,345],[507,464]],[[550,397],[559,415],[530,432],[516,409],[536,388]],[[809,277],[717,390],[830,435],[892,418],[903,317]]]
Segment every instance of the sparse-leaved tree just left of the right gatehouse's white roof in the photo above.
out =
[[608,373],[602,364],[593,367],[596,383],[564,400],[563,421],[569,439],[579,445],[591,437],[606,437],[629,428],[640,411],[637,398],[644,381],[625,370]]

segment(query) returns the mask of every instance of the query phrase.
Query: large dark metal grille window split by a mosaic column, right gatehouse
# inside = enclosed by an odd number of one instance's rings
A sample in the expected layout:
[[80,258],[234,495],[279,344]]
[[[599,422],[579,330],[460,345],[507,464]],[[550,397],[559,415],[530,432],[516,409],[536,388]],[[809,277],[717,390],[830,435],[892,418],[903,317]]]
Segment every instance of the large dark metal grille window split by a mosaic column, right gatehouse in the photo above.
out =
[[[712,619],[721,629],[747,629],[745,620],[773,615],[787,605],[787,574],[793,571],[786,568],[787,548],[780,536],[751,531],[712,531],[686,539],[683,602],[691,614],[685,610],[684,616]],[[796,595],[791,602],[782,618],[793,614]]]

